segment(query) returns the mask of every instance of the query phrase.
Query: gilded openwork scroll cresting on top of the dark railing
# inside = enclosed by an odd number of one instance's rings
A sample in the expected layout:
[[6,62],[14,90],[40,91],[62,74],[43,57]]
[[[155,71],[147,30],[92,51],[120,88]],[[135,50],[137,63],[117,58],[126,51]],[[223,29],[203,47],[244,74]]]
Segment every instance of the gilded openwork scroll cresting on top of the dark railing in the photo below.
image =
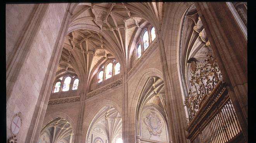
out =
[[201,100],[209,96],[218,81],[222,79],[222,74],[216,58],[211,54],[207,54],[206,59],[200,61],[192,57],[188,63],[190,63],[190,89],[184,104],[189,110],[190,122],[199,110]]

